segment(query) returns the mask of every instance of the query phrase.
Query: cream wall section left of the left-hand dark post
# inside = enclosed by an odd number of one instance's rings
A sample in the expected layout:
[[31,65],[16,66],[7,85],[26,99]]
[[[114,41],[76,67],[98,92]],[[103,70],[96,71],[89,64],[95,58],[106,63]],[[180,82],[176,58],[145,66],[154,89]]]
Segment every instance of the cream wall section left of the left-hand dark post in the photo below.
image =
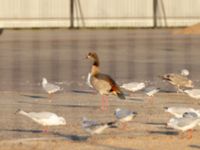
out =
[[69,0],[0,0],[0,27],[69,26]]

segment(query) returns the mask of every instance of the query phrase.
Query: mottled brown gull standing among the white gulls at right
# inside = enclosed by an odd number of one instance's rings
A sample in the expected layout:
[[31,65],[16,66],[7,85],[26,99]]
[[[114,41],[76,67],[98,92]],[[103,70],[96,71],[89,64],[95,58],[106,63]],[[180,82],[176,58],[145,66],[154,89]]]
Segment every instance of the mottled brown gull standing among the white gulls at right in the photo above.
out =
[[186,76],[170,73],[160,76],[163,80],[168,81],[170,84],[177,88],[177,92],[181,91],[181,88],[193,88],[192,80],[189,80]]

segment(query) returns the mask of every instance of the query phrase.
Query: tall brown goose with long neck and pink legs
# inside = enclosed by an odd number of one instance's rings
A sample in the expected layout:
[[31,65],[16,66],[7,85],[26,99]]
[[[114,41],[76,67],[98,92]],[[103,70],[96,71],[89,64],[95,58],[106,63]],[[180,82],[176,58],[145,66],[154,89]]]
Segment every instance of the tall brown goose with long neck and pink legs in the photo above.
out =
[[[104,110],[104,95],[113,94],[118,96],[120,99],[125,99],[123,92],[120,87],[116,84],[116,82],[106,74],[100,73],[99,69],[99,58],[95,52],[89,52],[87,59],[93,61],[93,65],[91,68],[91,85],[94,89],[96,89],[102,95],[102,106],[101,109]],[[108,105],[108,100],[105,100]]]

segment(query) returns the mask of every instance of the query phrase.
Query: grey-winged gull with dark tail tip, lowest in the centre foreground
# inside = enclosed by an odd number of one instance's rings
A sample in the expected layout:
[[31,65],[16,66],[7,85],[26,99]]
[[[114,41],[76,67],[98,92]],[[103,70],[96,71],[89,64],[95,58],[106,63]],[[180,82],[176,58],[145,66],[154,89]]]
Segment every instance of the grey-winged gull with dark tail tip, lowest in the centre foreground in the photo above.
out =
[[115,122],[97,123],[96,121],[89,120],[86,117],[83,117],[82,121],[83,129],[91,135],[101,134],[105,129],[112,127],[114,124]]

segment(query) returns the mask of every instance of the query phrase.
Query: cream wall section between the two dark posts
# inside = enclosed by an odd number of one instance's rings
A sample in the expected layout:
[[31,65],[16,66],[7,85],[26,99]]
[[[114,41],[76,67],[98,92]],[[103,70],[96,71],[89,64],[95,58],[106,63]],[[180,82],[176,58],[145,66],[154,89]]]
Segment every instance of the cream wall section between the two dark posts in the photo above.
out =
[[75,25],[81,27],[150,27],[152,0],[77,0]]

